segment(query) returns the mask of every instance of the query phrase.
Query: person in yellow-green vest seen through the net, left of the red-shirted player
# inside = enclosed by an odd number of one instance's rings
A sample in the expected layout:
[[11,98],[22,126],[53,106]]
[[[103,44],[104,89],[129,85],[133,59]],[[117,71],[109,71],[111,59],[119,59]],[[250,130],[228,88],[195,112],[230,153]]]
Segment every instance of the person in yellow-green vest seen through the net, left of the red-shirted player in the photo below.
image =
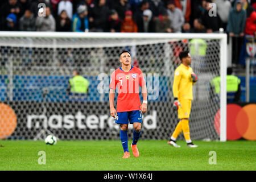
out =
[[82,77],[81,71],[79,69],[74,69],[73,78],[69,79],[67,94],[75,93],[75,94],[88,94],[89,81]]

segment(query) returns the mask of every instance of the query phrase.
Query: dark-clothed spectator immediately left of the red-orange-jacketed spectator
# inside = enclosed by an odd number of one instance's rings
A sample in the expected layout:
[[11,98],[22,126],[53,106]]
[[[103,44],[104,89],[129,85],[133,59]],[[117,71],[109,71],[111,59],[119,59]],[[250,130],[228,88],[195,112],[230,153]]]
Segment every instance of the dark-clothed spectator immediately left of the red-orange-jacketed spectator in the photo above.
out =
[[118,13],[112,10],[108,19],[108,30],[109,32],[120,32],[121,31],[121,20],[118,17]]

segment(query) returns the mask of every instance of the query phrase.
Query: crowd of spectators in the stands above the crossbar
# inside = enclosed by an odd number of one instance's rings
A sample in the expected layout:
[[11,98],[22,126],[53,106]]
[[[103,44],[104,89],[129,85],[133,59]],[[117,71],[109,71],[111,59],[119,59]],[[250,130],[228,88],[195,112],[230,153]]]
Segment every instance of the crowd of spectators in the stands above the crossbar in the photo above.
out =
[[[209,16],[211,2],[217,16]],[[44,17],[38,16],[40,3],[47,6]],[[255,0],[5,0],[0,6],[5,31],[215,32],[222,27],[243,36],[256,30]]]

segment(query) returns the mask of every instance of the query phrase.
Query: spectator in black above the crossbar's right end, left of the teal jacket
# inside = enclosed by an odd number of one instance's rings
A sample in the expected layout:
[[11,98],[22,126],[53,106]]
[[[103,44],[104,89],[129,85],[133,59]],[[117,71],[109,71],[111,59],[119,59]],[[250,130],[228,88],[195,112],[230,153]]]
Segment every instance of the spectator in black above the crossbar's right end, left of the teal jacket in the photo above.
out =
[[216,14],[216,16],[209,16],[210,14],[209,11],[211,9],[212,7],[210,6],[210,2],[207,2],[207,9],[204,12],[204,14],[201,16],[203,24],[207,29],[207,33],[219,31],[220,27],[222,27],[222,22],[218,14]]

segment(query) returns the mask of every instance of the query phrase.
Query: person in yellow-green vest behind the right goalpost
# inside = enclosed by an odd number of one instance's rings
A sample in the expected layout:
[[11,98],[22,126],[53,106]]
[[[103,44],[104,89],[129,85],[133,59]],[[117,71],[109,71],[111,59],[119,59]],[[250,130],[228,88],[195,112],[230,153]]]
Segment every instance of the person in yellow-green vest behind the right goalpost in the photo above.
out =
[[[241,80],[237,76],[232,75],[233,69],[227,69],[227,76],[226,76],[226,92],[227,92],[227,102],[240,102],[241,97]],[[212,93],[213,94],[220,94],[220,76],[213,78],[210,82],[212,86]]]

